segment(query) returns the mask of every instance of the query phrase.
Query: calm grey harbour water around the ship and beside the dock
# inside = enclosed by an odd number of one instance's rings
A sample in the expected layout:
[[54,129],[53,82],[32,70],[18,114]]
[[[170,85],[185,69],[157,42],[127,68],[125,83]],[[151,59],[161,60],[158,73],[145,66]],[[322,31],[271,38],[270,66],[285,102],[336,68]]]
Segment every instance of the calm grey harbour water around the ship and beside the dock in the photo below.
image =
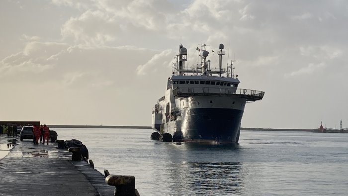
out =
[[142,196],[348,195],[348,134],[242,131],[240,145],[164,143],[151,129],[55,129]]

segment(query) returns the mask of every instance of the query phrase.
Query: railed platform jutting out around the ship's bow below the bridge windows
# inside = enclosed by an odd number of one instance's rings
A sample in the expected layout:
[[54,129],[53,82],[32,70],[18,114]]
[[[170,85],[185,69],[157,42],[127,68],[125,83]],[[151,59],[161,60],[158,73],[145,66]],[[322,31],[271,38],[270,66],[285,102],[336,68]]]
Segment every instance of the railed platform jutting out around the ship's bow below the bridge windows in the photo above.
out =
[[235,88],[213,88],[213,87],[188,87],[175,88],[173,90],[175,98],[187,98],[192,96],[228,96],[246,98],[247,101],[261,100],[264,92],[249,90],[249,89],[235,89]]

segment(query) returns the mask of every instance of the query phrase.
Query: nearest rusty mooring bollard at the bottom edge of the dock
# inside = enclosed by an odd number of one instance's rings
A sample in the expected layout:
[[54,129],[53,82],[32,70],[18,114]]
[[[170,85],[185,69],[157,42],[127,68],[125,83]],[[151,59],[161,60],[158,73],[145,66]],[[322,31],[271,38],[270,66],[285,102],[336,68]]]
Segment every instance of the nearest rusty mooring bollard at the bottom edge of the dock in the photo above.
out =
[[114,196],[136,196],[134,176],[108,175],[105,183],[115,187]]

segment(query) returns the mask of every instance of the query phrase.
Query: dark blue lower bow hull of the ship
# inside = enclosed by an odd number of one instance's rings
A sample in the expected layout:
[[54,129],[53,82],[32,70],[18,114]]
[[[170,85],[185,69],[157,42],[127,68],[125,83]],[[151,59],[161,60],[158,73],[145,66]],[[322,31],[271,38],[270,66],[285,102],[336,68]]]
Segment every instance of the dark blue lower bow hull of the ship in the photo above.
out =
[[181,112],[182,139],[235,143],[243,111],[228,108],[194,108]]

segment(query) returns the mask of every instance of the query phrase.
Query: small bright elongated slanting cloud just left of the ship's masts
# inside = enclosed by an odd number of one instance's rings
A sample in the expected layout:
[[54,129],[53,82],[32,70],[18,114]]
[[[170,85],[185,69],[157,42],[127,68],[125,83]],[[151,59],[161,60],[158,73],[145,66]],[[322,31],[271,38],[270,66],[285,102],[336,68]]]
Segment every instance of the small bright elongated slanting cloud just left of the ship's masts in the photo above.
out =
[[156,71],[158,66],[166,65],[166,59],[168,59],[170,55],[174,56],[172,50],[165,50],[161,53],[155,54],[147,63],[137,67],[137,75],[146,75],[150,71]]

